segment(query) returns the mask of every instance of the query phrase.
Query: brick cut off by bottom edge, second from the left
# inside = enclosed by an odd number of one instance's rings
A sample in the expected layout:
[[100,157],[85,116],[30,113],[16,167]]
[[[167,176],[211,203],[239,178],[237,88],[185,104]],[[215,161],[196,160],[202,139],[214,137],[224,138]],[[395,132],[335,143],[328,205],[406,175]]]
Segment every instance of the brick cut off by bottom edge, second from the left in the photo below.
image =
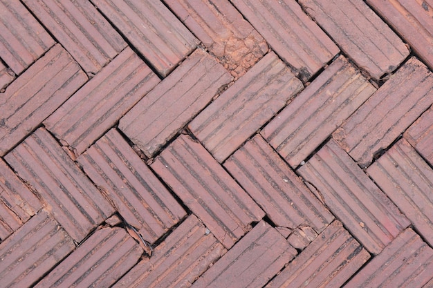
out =
[[111,287],[142,255],[125,229],[95,231],[35,287]]

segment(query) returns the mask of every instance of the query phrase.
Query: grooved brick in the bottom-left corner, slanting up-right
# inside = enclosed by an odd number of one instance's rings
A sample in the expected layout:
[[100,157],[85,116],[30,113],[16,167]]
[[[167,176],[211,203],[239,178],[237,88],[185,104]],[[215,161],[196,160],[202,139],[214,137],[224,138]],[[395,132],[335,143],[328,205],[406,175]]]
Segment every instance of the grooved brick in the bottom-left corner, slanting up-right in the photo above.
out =
[[39,211],[1,242],[1,287],[33,287],[74,248],[73,240],[59,223],[46,211]]

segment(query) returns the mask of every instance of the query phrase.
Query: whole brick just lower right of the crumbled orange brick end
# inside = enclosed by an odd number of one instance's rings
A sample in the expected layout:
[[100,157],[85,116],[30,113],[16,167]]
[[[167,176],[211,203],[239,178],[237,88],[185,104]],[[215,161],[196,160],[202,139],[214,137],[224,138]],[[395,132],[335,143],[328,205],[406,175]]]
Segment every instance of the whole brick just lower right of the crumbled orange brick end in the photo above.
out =
[[223,162],[301,89],[301,81],[270,52],[188,127]]

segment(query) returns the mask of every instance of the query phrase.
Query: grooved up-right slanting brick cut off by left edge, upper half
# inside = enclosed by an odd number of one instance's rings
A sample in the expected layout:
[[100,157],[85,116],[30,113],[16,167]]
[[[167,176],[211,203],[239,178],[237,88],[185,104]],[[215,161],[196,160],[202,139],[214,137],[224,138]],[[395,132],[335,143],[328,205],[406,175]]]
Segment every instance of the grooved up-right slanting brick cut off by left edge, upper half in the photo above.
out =
[[87,80],[61,46],[51,48],[1,95],[0,156],[71,97]]

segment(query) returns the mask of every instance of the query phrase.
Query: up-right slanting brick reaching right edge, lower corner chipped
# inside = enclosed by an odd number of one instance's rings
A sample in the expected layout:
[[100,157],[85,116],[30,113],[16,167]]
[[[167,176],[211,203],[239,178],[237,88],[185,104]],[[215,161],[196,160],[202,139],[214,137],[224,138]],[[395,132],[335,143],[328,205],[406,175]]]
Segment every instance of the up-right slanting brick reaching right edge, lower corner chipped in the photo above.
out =
[[416,58],[409,59],[333,138],[360,166],[369,166],[432,103],[433,74]]

